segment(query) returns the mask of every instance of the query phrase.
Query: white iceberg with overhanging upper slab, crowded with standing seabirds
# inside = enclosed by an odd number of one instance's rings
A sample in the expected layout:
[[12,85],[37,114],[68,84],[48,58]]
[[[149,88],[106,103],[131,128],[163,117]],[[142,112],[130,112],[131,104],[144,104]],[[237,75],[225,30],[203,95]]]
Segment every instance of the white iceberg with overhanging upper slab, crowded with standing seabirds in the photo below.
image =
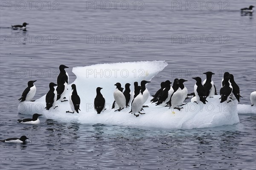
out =
[[[219,95],[207,99],[207,104],[189,102],[180,111],[155,106],[150,103],[150,97],[145,103],[148,105],[144,108],[145,114],[139,117],[129,113],[130,108],[125,108],[120,112],[114,112],[114,109],[111,109],[116,82],[121,83],[123,87],[126,83],[130,83],[131,91],[133,91],[134,81],[139,84],[142,80],[151,81],[167,65],[165,61],[140,61],[74,67],[72,72],[76,75],[76,80],[68,85],[65,97],[69,99],[71,85],[76,84],[78,95],[81,98],[79,113],[66,113],[70,110],[69,102],[61,101],[57,101],[58,107],[55,109],[53,107],[49,110],[44,109],[45,95],[34,102],[21,103],[18,106],[18,112],[28,115],[40,113],[45,118],[66,122],[76,121],[81,124],[101,123],[164,129],[192,129],[239,123],[238,102],[220,103]],[[98,86],[103,88],[101,92],[106,101],[106,110],[101,114],[97,114],[93,107]]]

